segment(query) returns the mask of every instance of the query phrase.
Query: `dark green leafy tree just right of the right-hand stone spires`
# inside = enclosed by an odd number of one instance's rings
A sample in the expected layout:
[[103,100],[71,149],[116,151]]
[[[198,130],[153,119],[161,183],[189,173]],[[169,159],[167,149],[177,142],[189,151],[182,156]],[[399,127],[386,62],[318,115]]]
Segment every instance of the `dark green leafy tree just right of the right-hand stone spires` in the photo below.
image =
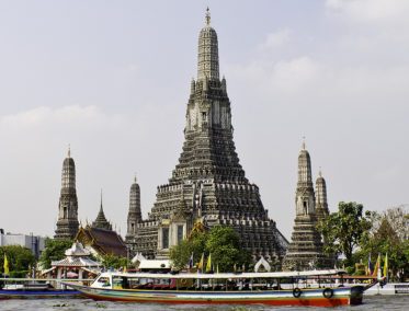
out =
[[372,227],[372,212],[364,214],[364,207],[357,203],[340,201],[338,209],[318,224],[318,230],[326,241],[325,253],[343,254],[346,265],[352,265],[354,250]]

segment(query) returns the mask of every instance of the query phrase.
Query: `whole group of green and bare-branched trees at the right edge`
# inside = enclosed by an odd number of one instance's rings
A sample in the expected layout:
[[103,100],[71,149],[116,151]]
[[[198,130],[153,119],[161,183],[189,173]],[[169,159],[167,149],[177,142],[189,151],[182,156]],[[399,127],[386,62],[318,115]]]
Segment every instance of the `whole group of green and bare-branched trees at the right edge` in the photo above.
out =
[[319,223],[318,229],[323,235],[326,253],[344,254],[351,273],[362,274],[362,268],[353,267],[354,263],[366,266],[370,254],[373,265],[380,254],[382,266],[388,254],[389,279],[404,281],[409,277],[409,219],[405,207],[364,215],[362,205],[340,203],[339,211]]

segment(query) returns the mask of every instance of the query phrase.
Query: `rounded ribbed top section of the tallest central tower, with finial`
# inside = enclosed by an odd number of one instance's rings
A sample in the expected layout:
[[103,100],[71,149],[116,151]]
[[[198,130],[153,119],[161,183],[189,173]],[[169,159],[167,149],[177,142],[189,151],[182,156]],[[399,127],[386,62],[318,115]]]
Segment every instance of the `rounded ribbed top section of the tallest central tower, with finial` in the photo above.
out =
[[218,43],[216,31],[211,26],[211,12],[206,10],[206,23],[198,35],[197,81],[219,80]]

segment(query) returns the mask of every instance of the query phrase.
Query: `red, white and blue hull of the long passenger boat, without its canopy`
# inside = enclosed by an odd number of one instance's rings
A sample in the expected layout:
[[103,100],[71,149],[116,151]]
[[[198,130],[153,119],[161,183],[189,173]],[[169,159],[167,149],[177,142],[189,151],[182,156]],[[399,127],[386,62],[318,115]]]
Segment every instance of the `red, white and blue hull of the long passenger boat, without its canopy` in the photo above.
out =
[[[149,289],[102,289],[87,286],[68,286],[81,291],[94,300],[186,303],[186,304],[269,304],[269,306],[313,306],[337,307],[362,303],[364,288],[343,287],[327,289],[293,290],[253,290],[253,291],[186,291],[186,290],[149,290]],[[330,292],[330,295],[328,295]],[[299,295],[299,297],[298,297]],[[329,297],[330,296],[330,297]]]

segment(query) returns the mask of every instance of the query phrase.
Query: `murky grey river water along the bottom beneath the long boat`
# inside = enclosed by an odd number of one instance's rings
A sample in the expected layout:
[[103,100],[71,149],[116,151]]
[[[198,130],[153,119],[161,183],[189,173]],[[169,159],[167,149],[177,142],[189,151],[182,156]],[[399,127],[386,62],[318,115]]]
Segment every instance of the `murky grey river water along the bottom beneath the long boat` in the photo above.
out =
[[[107,301],[93,301],[91,299],[43,299],[43,300],[0,300],[1,311],[23,311],[23,310],[140,310],[140,311],[161,311],[161,310],[209,310],[209,311],[262,311],[262,310],[321,310],[322,308],[299,308],[299,307],[263,307],[263,306],[169,306],[169,304],[148,304],[148,303],[122,303]],[[409,310],[409,295],[402,296],[366,296],[364,303],[355,307],[339,307],[336,310]]]

